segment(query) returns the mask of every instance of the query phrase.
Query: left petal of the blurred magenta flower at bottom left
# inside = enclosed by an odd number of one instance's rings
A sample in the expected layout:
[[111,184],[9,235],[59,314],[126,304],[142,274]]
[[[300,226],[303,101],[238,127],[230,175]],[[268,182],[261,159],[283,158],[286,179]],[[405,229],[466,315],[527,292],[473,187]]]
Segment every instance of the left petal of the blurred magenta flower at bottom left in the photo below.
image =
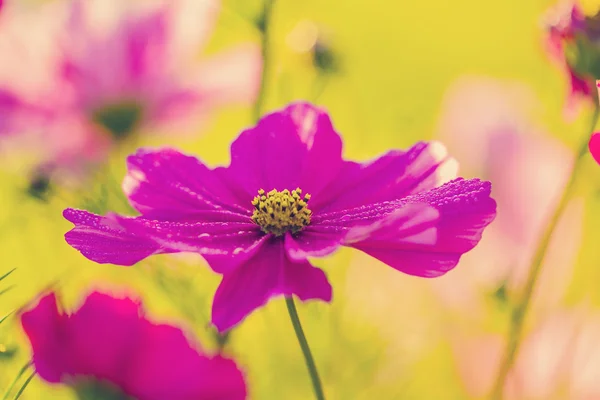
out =
[[138,307],[130,300],[93,293],[79,312],[66,316],[59,314],[54,294],[44,297],[21,316],[37,373],[49,382],[93,375],[122,385],[127,362],[122,355],[138,333]]

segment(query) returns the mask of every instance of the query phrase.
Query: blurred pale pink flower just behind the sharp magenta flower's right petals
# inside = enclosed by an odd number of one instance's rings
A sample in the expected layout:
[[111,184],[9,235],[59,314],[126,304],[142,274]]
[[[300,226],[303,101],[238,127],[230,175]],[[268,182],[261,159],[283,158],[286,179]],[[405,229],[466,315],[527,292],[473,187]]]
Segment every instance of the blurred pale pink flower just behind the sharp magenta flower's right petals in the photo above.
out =
[[[527,278],[533,252],[556,207],[573,154],[526,116],[536,101],[526,87],[470,77],[448,90],[439,135],[466,176],[494,184],[498,216],[461,268],[433,282],[448,307],[485,315],[485,300],[511,300]],[[534,307],[552,307],[567,288],[579,250],[583,207],[575,199],[552,237]]]

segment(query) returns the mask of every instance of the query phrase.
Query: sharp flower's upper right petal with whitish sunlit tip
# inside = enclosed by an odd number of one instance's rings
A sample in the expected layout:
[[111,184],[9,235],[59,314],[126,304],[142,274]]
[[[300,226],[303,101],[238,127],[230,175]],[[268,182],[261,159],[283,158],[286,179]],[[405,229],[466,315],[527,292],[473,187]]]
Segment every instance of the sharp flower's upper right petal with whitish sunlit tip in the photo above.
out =
[[369,163],[345,162],[327,192],[313,196],[311,209],[331,212],[397,200],[454,179],[456,171],[456,161],[441,143],[417,143],[407,151],[390,151]]

